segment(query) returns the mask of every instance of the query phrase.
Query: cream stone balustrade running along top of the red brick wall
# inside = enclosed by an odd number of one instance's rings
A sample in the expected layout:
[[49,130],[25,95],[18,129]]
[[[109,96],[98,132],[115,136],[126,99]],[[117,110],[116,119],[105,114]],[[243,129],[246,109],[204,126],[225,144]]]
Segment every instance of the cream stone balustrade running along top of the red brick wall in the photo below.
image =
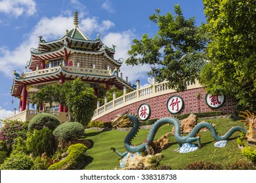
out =
[[[195,83],[188,83],[187,90],[194,88],[201,88],[202,86],[196,81]],[[138,101],[142,101],[144,99],[149,99],[152,97],[157,97],[159,95],[164,95],[167,93],[176,92],[175,90],[169,87],[168,82],[154,83],[150,86],[146,86],[144,88],[140,88],[139,80],[137,81],[137,90],[126,93],[126,88],[123,89],[123,95],[121,97],[116,98],[116,93],[113,94],[113,100],[108,102],[105,98],[104,105],[100,106],[97,104],[97,108],[95,110],[94,116],[92,120],[96,120],[108,112],[112,112],[117,110],[118,108],[125,107],[126,105],[130,105],[132,103],[136,103]]]

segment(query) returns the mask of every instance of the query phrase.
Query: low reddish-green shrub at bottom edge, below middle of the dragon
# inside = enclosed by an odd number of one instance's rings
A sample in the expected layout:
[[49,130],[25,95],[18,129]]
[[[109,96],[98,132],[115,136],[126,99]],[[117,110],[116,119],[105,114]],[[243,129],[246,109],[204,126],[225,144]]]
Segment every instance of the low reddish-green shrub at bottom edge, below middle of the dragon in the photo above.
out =
[[211,162],[192,162],[188,163],[186,167],[184,167],[184,170],[222,170],[223,167],[219,165],[218,163],[211,163]]

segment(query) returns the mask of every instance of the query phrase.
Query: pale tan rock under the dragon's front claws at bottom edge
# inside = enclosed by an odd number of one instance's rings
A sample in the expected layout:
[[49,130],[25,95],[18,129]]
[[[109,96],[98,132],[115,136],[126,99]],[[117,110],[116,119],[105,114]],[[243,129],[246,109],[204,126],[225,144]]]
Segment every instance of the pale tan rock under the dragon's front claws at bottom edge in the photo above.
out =
[[163,154],[142,156],[140,152],[128,153],[120,160],[117,169],[154,169],[161,159],[163,159]]

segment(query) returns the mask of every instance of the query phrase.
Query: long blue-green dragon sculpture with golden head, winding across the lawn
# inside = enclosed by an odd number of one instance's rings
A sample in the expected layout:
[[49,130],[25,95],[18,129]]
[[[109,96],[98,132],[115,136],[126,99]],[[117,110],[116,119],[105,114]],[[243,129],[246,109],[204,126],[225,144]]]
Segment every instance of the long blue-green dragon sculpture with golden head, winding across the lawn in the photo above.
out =
[[131,141],[133,140],[133,138],[135,138],[135,136],[137,135],[137,133],[140,129],[139,120],[135,115],[129,114],[129,111],[126,112],[125,114],[119,114],[119,115],[117,115],[116,119],[112,120],[112,126],[114,128],[127,127],[131,122],[133,122],[133,128],[131,129],[131,131],[129,131],[129,133],[127,134],[127,136],[125,137],[125,140],[123,142],[126,152],[121,154],[120,152],[118,152],[116,150],[116,148],[111,148],[121,158],[126,156],[128,152],[130,152],[131,154],[134,154],[136,152],[143,152],[144,150],[146,150],[146,152],[148,154],[152,154],[151,144],[154,140],[156,132],[161,127],[161,125],[164,125],[164,124],[173,124],[174,125],[174,127],[175,127],[174,137],[175,137],[176,141],[178,142],[180,148],[181,148],[182,144],[192,143],[192,142],[197,142],[198,146],[200,147],[201,146],[200,137],[197,137],[197,133],[203,127],[206,127],[207,129],[209,129],[211,131],[211,134],[213,135],[213,139],[215,139],[215,141],[226,140],[236,131],[244,131],[246,133],[244,128],[235,126],[235,127],[232,127],[223,136],[219,136],[217,134],[215,128],[213,127],[213,125],[211,125],[208,122],[201,122],[201,123],[197,124],[194,127],[194,129],[192,129],[191,133],[189,133],[186,136],[182,136],[181,135],[181,126],[179,124],[179,121],[176,118],[167,117],[167,118],[161,118],[160,120],[156,121],[156,123],[150,129],[150,131],[148,133],[148,137],[146,137],[146,139],[144,140],[144,142],[142,142],[142,144],[139,144],[138,146],[133,146],[131,144]]

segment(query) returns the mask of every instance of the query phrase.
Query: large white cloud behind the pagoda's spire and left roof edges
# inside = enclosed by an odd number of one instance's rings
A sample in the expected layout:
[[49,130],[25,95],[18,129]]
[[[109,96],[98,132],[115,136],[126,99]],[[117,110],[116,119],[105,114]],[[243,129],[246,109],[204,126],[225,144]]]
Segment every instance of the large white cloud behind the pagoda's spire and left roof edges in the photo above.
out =
[[[30,48],[37,48],[39,36],[43,35],[45,41],[53,41],[59,39],[66,33],[66,29],[73,28],[74,17],[56,16],[53,18],[41,18],[37,25],[33,27],[30,33],[24,36],[24,42],[19,44],[14,50],[0,47],[0,71],[7,76],[12,76],[13,70],[17,73],[24,71],[26,62],[30,60]],[[85,18],[80,21],[79,28],[85,35],[91,35],[94,31],[106,31],[114,26],[109,20],[98,22],[96,17]],[[96,38],[95,33],[95,38]],[[95,39],[93,38],[93,39]],[[18,43],[17,43],[18,45]]]

